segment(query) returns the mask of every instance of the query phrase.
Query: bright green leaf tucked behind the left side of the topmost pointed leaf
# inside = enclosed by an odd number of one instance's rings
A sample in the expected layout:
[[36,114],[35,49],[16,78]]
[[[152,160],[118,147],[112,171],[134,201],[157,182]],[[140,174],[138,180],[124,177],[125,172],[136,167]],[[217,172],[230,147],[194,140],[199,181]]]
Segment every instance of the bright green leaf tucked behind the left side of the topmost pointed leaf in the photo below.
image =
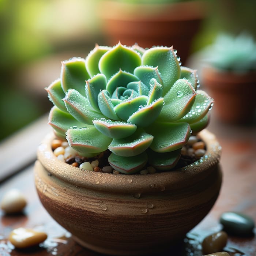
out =
[[93,77],[94,75],[100,73],[98,65],[99,60],[101,59],[102,55],[108,52],[110,49],[111,47],[99,46],[96,44],[95,48],[88,54],[88,56],[85,59],[85,66],[90,77]]

